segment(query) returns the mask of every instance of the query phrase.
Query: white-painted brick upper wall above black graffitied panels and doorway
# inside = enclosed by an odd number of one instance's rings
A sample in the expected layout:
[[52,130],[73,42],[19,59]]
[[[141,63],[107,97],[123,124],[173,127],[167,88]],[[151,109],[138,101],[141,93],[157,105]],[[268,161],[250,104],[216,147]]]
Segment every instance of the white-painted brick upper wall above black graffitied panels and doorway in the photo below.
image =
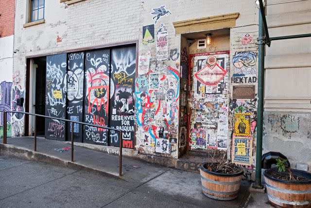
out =
[[[158,20],[155,34],[159,25],[164,23],[169,33],[169,51],[180,49],[180,35],[175,35],[174,21],[239,12],[237,26],[258,22],[258,9],[254,0],[85,0],[69,5],[68,8],[59,0],[46,0],[46,22],[23,28],[27,17],[26,0],[17,0],[15,48],[19,52],[14,56],[14,74],[19,73],[23,77],[20,84],[25,86],[26,56],[126,41],[138,40],[139,55],[151,50],[155,58],[155,44],[141,43],[142,26],[153,24],[153,15],[150,14],[152,8],[164,4],[173,15],[165,15]],[[243,30],[247,31],[247,27]],[[56,42],[57,36],[62,38],[62,42]],[[166,64],[173,66],[175,62],[166,61]],[[177,157],[177,151],[172,156]]]

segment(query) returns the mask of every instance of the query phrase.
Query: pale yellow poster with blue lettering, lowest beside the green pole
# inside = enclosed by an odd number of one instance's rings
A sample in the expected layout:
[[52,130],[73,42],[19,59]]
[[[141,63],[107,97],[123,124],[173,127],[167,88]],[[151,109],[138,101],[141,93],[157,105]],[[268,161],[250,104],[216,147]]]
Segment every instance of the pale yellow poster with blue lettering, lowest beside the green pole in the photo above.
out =
[[239,165],[252,165],[253,142],[251,138],[234,136],[232,139],[231,160]]

